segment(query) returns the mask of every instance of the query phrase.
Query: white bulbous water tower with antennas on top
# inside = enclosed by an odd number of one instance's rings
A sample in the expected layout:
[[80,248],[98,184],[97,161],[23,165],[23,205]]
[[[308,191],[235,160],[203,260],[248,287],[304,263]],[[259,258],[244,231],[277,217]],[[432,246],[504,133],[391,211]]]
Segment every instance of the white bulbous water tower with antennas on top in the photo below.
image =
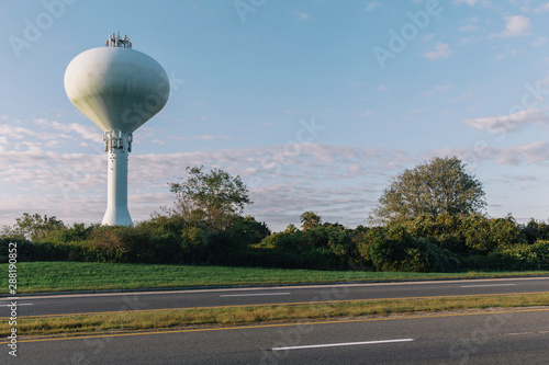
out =
[[163,67],[132,49],[127,36],[109,35],[104,47],[76,56],[65,71],[65,91],[86,116],[103,129],[108,197],[103,225],[132,225],[127,210],[127,155],[132,134],[157,114],[169,96]]

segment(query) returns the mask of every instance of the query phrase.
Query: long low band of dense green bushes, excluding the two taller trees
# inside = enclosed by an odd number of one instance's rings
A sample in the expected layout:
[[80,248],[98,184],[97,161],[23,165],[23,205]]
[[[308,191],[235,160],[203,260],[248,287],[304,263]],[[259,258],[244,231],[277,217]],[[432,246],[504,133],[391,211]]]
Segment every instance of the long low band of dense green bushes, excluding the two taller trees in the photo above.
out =
[[511,216],[419,216],[355,229],[318,223],[306,229],[290,225],[271,233],[249,216],[237,216],[231,227],[213,230],[189,225],[178,215],[158,215],[135,227],[63,225],[32,241],[4,232],[1,252],[8,251],[10,241],[18,242],[19,261],[410,272],[549,269],[549,225],[535,220],[520,225]]

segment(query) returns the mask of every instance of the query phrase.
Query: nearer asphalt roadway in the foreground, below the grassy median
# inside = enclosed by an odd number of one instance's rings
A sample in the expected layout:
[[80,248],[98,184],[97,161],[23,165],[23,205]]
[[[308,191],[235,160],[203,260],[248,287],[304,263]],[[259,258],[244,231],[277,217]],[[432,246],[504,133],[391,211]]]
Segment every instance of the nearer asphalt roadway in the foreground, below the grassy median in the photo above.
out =
[[548,364],[549,309],[1,343],[1,364]]

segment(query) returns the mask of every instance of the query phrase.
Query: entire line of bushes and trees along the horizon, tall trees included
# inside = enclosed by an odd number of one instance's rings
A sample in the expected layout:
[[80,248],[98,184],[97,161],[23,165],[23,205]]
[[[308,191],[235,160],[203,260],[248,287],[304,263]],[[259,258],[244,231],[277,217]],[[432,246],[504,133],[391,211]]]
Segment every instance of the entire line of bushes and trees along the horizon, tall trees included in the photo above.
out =
[[354,229],[304,212],[300,228],[289,225],[272,233],[243,214],[253,202],[240,176],[219,169],[188,168],[168,185],[173,206],[133,227],[66,226],[56,217],[25,213],[2,228],[1,252],[16,241],[20,261],[415,272],[549,269],[549,225],[486,216],[482,184],[456,157],[435,158],[394,176],[369,226]]

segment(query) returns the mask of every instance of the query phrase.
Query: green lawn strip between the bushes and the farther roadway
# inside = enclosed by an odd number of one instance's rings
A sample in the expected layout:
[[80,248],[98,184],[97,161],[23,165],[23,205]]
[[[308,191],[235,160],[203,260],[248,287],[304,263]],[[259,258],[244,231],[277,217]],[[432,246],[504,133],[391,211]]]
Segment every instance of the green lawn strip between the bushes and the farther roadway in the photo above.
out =
[[[410,281],[534,275],[549,275],[549,272],[385,273],[88,262],[20,262],[18,263],[18,294],[178,286]],[[8,294],[8,264],[0,264],[0,294]]]

